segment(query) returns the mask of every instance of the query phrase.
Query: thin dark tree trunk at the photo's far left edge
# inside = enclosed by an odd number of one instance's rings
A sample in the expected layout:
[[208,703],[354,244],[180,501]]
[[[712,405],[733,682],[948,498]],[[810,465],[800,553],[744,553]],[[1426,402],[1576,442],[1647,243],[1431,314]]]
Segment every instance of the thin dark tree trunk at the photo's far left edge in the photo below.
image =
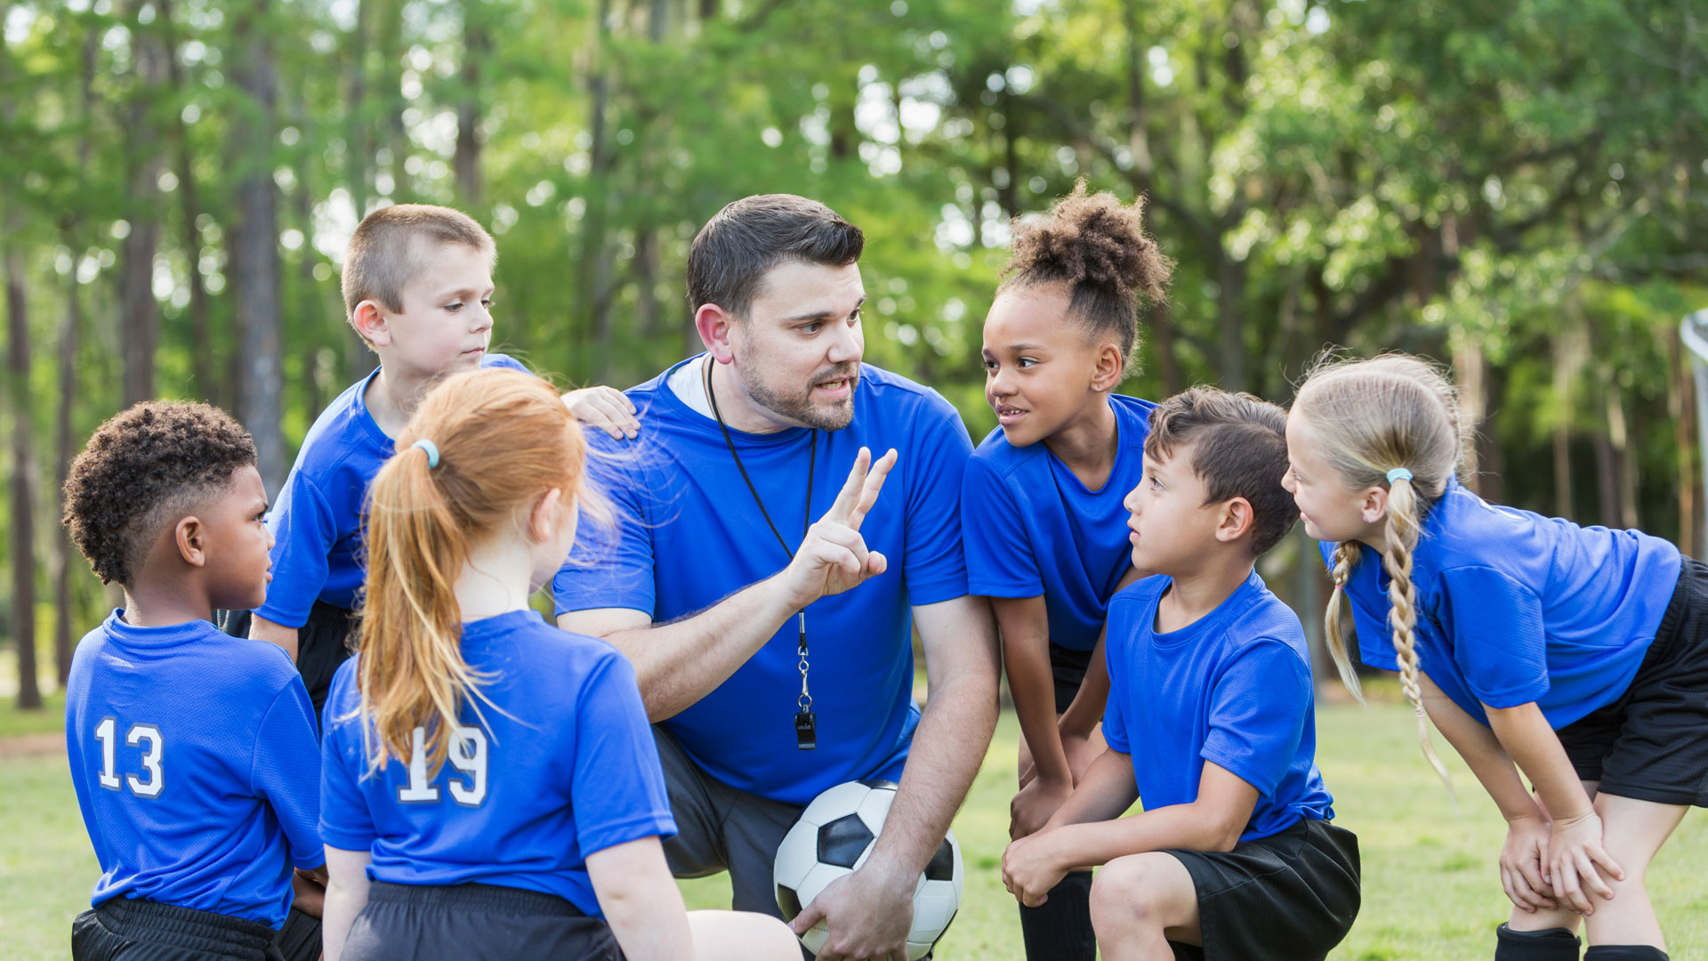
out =
[[[17,236],[17,231],[9,231]],[[41,708],[36,686],[36,433],[29,402],[29,318],[24,315],[24,256],[5,251],[7,340],[12,409],[12,624],[17,641],[17,706]]]

